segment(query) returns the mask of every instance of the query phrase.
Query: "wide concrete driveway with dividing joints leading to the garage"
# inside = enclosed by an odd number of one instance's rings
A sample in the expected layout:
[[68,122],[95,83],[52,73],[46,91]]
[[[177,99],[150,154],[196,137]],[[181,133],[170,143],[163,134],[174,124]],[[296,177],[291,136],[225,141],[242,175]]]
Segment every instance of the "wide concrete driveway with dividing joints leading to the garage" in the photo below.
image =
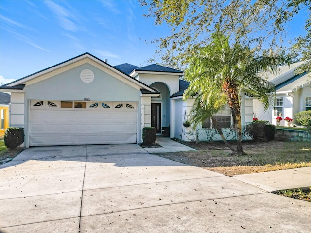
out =
[[135,144],[29,148],[0,169],[0,233],[303,233],[310,210]]

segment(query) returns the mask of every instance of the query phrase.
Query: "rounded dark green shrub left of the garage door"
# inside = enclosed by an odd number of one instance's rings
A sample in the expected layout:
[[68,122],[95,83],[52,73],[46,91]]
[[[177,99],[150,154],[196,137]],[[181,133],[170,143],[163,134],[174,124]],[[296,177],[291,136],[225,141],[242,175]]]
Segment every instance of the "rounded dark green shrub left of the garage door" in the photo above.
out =
[[4,132],[4,144],[14,149],[24,142],[24,128],[7,128]]

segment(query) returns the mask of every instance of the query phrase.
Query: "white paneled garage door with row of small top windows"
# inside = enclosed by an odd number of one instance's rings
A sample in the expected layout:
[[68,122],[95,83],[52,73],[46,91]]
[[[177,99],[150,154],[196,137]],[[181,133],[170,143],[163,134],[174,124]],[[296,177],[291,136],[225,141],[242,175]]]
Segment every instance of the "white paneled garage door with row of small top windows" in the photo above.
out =
[[30,102],[29,145],[136,143],[137,103]]

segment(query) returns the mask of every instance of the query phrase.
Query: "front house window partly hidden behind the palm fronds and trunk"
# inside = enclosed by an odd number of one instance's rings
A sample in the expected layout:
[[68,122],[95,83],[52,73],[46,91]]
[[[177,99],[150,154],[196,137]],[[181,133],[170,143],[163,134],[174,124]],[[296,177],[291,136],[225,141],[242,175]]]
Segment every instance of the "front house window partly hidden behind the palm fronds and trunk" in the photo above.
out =
[[[213,118],[217,121],[218,125],[221,128],[230,128],[231,127],[231,110],[228,104],[225,107],[218,111]],[[202,121],[202,128],[216,128],[215,122],[210,117],[207,117]]]

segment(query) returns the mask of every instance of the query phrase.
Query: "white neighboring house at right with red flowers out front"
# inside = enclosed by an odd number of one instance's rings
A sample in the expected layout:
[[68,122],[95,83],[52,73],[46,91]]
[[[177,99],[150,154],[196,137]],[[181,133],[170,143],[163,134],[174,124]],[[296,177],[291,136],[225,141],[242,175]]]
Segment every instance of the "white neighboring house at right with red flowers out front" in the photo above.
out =
[[301,111],[311,110],[311,77],[303,73],[295,74],[295,68],[304,62],[278,67],[277,74],[265,73],[263,75],[271,83],[276,85],[275,104],[267,111],[262,104],[254,99],[254,114],[259,120],[266,120],[276,124],[276,117],[281,116],[281,126],[287,126],[284,118],[290,117],[297,124],[295,114]]

